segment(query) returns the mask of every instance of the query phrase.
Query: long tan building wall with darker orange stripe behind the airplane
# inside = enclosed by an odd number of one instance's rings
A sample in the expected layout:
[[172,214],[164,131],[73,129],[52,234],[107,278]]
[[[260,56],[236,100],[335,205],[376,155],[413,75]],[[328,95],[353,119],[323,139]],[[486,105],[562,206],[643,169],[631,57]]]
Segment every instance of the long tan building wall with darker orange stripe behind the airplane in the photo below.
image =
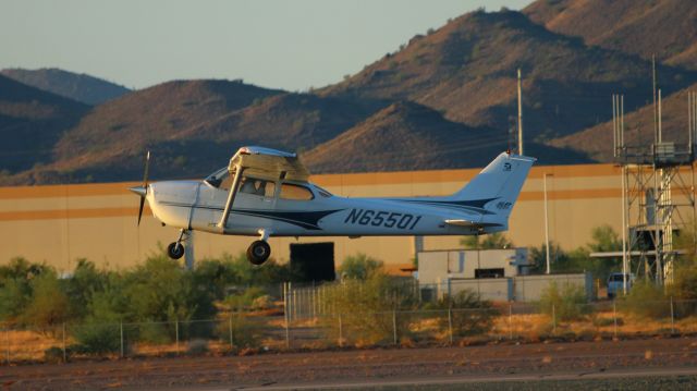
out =
[[[445,195],[462,187],[479,170],[315,175],[311,181],[337,195]],[[590,231],[610,224],[617,232],[621,215],[621,172],[611,164],[534,167],[511,217],[508,236],[518,246],[539,246],[545,240],[542,178],[548,176],[550,239],[564,248],[590,240]],[[15,256],[71,270],[75,259],[88,258],[112,268],[136,264],[176,237],[146,209],[136,227],[138,198],[126,191],[135,183],[27,186],[0,188],[0,262]],[[196,258],[239,254],[250,237],[194,235]],[[387,264],[408,264],[413,237],[322,237],[301,242],[335,242],[335,257],[366,253]],[[425,249],[458,247],[460,237],[426,237]],[[274,239],[272,256],[289,257],[295,239]]]

